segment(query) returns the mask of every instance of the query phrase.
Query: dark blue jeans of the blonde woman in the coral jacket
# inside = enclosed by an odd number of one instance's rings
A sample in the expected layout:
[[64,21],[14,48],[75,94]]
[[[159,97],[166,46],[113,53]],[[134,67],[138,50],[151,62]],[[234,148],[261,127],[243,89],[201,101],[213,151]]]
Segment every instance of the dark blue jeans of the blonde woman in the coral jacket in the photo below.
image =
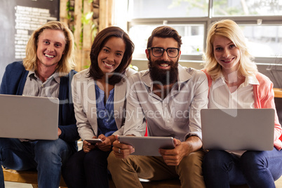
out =
[[274,187],[282,175],[282,150],[248,151],[241,158],[221,150],[211,150],[203,159],[206,187]]

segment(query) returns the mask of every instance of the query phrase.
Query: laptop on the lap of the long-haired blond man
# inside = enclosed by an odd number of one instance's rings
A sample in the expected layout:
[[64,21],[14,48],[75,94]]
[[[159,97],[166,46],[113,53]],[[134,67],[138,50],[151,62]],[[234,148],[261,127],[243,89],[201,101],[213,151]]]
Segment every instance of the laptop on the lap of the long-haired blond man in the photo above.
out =
[[58,139],[58,98],[0,95],[0,137]]

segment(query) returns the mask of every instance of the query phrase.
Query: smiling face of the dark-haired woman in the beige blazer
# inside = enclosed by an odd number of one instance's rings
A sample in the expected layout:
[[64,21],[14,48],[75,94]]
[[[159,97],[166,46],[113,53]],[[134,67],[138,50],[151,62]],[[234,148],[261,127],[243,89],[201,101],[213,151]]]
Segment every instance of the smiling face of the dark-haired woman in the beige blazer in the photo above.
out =
[[111,37],[98,54],[98,65],[104,74],[114,72],[119,67],[123,54],[126,51],[126,43],[123,39]]

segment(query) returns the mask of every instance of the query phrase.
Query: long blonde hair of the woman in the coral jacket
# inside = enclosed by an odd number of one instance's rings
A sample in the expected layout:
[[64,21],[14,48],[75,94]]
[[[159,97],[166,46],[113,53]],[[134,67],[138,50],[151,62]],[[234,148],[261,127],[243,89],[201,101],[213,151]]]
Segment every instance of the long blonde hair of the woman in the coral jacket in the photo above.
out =
[[245,36],[243,35],[239,25],[232,20],[220,20],[213,22],[210,26],[206,40],[206,53],[203,54],[206,72],[208,72],[213,80],[219,78],[222,71],[221,65],[217,62],[217,60],[215,60],[213,51],[215,36],[224,36],[232,41],[237,48],[239,48],[241,53],[238,69],[239,75],[246,77],[257,72],[257,65],[253,62],[253,56],[248,52]]

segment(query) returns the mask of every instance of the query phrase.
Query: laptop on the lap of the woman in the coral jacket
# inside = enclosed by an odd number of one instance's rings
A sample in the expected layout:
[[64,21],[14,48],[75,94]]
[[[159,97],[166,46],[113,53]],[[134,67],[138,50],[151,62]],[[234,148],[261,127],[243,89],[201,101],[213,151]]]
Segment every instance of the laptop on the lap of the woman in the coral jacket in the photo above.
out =
[[274,148],[274,109],[201,109],[203,149]]

